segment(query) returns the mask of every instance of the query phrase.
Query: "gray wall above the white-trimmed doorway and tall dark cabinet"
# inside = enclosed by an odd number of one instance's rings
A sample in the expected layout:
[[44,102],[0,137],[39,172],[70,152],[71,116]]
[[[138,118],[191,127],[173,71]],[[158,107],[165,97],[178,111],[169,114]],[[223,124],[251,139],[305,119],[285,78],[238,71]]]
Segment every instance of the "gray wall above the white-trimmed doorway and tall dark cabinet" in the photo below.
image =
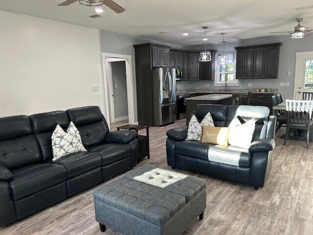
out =
[[132,71],[133,71],[133,86],[134,86],[134,114],[135,121],[137,118],[137,94],[136,94],[136,72],[135,72],[135,55],[134,55],[134,47],[135,44],[141,43],[158,43],[163,45],[168,45],[172,47],[182,48],[178,45],[167,44],[157,41],[151,41],[141,38],[133,38],[129,36],[125,36],[122,34],[117,34],[109,31],[100,31],[100,42],[101,42],[101,51],[105,53],[114,53],[114,54],[123,54],[123,55],[131,55],[132,56]]

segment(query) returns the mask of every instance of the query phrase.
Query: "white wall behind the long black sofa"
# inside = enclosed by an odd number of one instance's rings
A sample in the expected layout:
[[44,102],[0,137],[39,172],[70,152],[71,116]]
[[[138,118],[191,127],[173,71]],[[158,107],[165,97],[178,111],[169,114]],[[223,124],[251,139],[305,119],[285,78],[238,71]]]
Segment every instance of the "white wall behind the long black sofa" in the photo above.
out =
[[99,31],[0,12],[0,117],[87,105],[104,111]]

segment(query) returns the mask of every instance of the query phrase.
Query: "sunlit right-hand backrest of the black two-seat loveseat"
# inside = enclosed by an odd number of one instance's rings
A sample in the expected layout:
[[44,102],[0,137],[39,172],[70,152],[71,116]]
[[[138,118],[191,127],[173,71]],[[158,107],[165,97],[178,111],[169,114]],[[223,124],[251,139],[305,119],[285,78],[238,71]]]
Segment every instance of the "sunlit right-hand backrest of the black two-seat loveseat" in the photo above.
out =
[[236,116],[242,122],[246,122],[251,118],[255,118],[255,131],[252,141],[266,138],[268,128],[269,108],[262,106],[250,106],[250,105],[231,105],[227,111],[227,121],[225,126],[229,126],[232,119]]

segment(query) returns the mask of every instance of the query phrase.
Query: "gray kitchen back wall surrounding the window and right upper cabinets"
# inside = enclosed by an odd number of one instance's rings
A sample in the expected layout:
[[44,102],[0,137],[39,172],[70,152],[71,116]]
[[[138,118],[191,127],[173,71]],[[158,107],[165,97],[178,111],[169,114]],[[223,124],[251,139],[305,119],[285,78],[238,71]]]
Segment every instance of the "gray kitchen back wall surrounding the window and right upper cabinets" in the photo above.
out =
[[[226,37],[227,39],[227,37]],[[234,88],[278,88],[285,98],[293,97],[294,73],[296,52],[313,51],[313,34],[307,34],[303,39],[291,39],[291,36],[285,36],[275,39],[274,37],[262,37],[243,40],[240,42],[226,43],[225,52],[235,51],[234,47],[249,46],[268,43],[283,43],[280,48],[279,57],[279,75],[277,79],[246,79],[239,80],[240,86]],[[203,50],[203,45],[187,47],[190,50]],[[217,55],[223,51],[223,44],[209,45],[208,48],[216,49]],[[288,75],[290,71],[290,75]],[[279,86],[280,82],[290,82],[290,86]],[[252,83],[252,87],[248,87]],[[205,84],[214,88],[214,81],[190,81],[178,82],[178,90],[184,89],[205,89]],[[215,87],[218,88],[219,87]]]

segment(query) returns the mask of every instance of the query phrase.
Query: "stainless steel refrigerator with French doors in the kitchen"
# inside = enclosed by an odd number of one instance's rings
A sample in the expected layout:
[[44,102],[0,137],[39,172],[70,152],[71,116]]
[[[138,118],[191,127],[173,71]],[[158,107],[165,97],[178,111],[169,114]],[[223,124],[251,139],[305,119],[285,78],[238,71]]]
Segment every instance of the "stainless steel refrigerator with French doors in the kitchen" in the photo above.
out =
[[176,120],[176,79],[168,68],[153,69],[153,124],[163,126]]

